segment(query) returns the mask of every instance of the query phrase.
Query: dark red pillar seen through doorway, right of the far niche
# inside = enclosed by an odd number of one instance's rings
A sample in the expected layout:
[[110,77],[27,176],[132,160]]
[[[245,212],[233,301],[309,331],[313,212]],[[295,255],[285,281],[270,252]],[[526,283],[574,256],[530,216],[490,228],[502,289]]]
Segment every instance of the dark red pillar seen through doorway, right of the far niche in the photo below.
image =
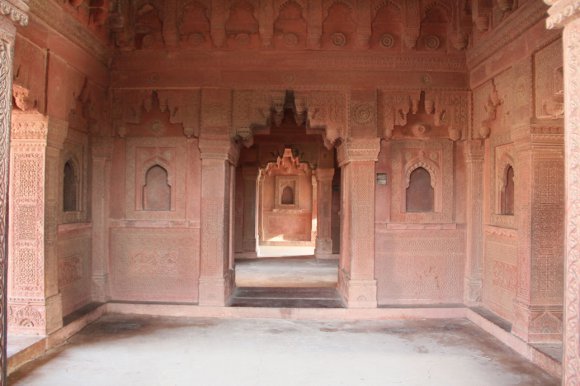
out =
[[318,221],[316,232],[316,249],[318,257],[332,254],[332,177],[334,169],[316,169],[316,181],[318,183],[318,195],[316,205],[318,207]]

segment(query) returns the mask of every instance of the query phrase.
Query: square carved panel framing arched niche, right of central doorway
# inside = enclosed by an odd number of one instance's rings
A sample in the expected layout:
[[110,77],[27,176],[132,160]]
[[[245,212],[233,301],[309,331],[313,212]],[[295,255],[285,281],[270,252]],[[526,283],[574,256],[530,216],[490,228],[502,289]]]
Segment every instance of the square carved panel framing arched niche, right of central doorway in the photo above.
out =
[[[391,222],[453,222],[453,142],[448,140],[393,141],[389,154],[381,153],[382,157],[392,159]],[[434,207],[431,212],[407,211],[407,188],[411,173],[417,168],[423,168],[430,174],[431,186],[434,190]]]

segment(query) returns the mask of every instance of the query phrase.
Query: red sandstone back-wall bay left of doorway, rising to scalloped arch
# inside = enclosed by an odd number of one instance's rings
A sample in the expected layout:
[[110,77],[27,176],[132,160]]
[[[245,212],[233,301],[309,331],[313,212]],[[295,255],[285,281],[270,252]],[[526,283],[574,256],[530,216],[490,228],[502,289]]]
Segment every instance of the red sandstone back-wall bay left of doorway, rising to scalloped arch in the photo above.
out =
[[[181,136],[179,136],[181,134]],[[144,206],[147,171],[167,171],[166,208]],[[111,298],[126,301],[197,302],[201,160],[155,105],[127,125],[112,155],[109,267]]]

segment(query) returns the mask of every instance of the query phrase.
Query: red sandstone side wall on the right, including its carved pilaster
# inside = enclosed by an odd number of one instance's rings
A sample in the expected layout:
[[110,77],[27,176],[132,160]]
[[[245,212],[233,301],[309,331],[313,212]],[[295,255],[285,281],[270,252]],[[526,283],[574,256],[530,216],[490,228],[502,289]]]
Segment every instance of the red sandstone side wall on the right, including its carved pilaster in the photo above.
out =
[[[467,61],[473,136],[486,138],[482,300],[525,339],[552,334],[549,339],[557,340],[564,216],[562,52],[559,33],[545,29],[544,8],[526,2],[503,19],[494,14],[491,31],[475,32]],[[504,46],[490,54],[499,44]],[[515,174],[514,215],[501,212],[508,165]]]

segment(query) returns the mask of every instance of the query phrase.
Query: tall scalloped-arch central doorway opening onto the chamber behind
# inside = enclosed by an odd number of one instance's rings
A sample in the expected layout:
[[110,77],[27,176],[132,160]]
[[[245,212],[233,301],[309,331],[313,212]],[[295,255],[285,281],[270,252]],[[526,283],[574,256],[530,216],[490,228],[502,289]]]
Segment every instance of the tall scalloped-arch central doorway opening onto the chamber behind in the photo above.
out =
[[331,298],[333,307],[339,304],[336,152],[324,146],[319,133],[309,132],[294,106],[287,92],[283,108],[272,108],[269,127],[254,131],[252,146],[240,153],[234,305],[246,304],[240,296],[252,291],[254,297],[315,297],[317,307],[323,306],[321,298]]

